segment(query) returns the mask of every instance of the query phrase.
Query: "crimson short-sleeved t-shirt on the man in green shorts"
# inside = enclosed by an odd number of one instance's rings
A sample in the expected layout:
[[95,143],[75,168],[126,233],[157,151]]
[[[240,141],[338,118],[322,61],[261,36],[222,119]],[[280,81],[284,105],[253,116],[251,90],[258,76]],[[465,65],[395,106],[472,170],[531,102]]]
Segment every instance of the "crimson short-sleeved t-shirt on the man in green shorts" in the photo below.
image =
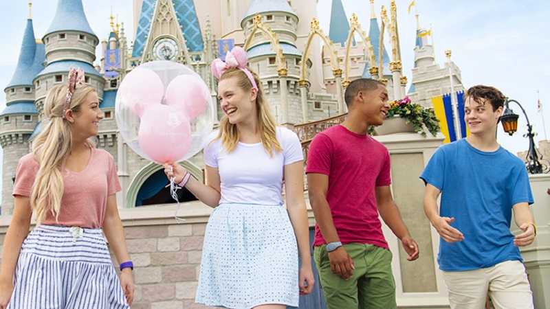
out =
[[[375,194],[375,187],[391,184],[386,146],[369,135],[332,126],[311,141],[306,173],[329,176],[327,201],[342,244],[374,244],[389,250]],[[316,225],[314,247],[326,243]]]

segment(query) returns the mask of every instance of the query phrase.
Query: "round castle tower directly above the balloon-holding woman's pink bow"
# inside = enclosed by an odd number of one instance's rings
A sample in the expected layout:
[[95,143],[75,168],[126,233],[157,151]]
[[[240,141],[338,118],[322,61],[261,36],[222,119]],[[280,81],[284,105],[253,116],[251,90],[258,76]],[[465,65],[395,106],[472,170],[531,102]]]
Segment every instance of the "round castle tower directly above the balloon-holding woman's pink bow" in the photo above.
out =
[[[279,123],[286,120],[287,124],[298,124],[302,122],[302,111],[300,104],[300,92],[298,89],[298,76],[300,72],[299,62],[302,53],[296,48],[296,30],[298,27],[298,16],[285,0],[252,0],[250,6],[241,21],[245,38],[250,36],[254,30],[254,16],[260,14],[261,22],[265,27],[270,28],[270,36],[278,39],[278,48],[283,51],[287,74],[285,78],[279,78],[276,63],[276,52],[271,41],[260,30],[256,31],[247,51],[248,65],[255,71],[262,83],[267,102],[270,102],[272,112]],[[259,18],[259,17],[257,17]],[[286,83],[287,102],[281,102],[281,89],[284,91]],[[286,104],[286,106],[283,106]],[[287,113],[283,117],[283,113]]]

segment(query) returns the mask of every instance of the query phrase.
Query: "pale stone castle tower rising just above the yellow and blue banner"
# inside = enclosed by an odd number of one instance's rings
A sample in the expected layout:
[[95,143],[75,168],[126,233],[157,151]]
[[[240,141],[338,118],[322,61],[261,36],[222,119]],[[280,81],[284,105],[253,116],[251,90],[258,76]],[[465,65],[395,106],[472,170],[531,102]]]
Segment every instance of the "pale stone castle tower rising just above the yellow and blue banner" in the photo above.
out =
[[[431,30],[429,30],[431,32]],[[451,78],[454,91],[464,90],[461,71],[454,62],[445,62],[440,68],[435,62],[433,44],[426,40],[428,30],[420,27],[417,14],[417,40],[415,45],[415,67],[412,69],[412,82],[408,97],[424,107],[431,107],[430,98],[451,92]],[[425,34],[423,36],[418,35]],[[450,69],[449,69],[450,67]],[[451,72],[451,73],[450,73]]]

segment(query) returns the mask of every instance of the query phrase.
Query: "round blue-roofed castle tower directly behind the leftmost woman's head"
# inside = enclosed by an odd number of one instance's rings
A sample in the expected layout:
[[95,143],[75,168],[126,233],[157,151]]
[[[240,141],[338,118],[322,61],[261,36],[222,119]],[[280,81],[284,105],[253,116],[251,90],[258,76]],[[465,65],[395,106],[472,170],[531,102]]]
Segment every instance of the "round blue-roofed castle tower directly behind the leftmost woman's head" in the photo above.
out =
[[67,82],[71,67],[84,70],[86,83],[98,89],[98,97],[103,98],[103,76],[92,66],[96,60],[98,37],[91,30],[82,0],[59,0],[54,21],[42,41],[45,43],[46,67],[34,78],[36,109],[39,120],[43,118],[43,104],[47,92],[52,87]]

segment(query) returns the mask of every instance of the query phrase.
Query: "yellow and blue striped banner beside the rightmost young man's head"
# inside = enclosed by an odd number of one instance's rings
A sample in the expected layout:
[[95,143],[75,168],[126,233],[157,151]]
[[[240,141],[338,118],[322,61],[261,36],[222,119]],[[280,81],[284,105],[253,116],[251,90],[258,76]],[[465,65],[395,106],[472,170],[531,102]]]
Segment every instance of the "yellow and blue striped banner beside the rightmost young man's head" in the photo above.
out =
[[[459,108],[461,138],[464,138],[470,135],[470,130],[468,130],[466,123],[464,122],[464,91],[456,91],[454,95],[456,95],[455,98]],[[441,133],[445,135],[443,144],[456,141],[456,128],[454,127],[451,93],[438,95],[437,97],[432,97],[431,99],[434,106],[435,116],[439,119]]]

